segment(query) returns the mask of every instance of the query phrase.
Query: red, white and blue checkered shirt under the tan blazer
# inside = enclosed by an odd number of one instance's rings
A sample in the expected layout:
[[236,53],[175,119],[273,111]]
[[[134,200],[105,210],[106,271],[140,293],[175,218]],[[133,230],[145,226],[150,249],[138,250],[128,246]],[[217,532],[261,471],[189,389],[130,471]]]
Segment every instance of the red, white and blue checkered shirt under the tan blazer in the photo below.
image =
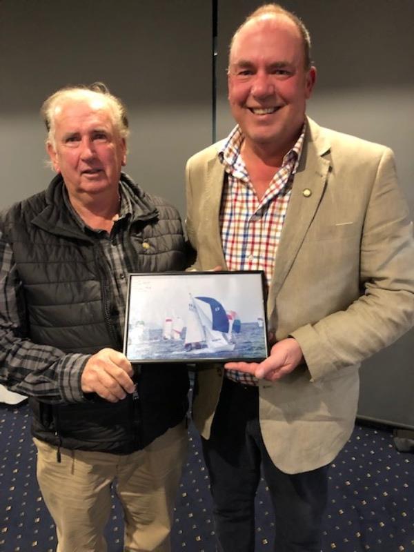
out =
[[[244,136],[239,126],[230,132],[219,151],[219,159],[227,173],[219,216],[221,242],[229,270],[264,270],[266,282],[270,284],[305,128],[306,125],[260,200],[242,159]],[[237,370],[227,370],[226,377],[242,384],[257,385],[253,375]]]

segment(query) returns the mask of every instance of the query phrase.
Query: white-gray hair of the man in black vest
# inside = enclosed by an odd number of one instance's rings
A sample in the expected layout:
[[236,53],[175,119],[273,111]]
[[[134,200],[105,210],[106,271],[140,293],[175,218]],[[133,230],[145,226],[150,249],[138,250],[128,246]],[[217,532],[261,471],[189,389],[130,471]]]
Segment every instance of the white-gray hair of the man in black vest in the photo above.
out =
[[119,131],[121,138],[126,139],[129,135],[128,114],[124,103],[112,95],[107,86],[101,82],[95,82],[86,85],[65,86],[59,88],[51,96],[46,98],[41,106],[41,115],[48,130],[47,143],[55,147],[55,110],[57,106],[66,103],[67,101],[90,101],[100,99],[105,101],[110,110],[113,122]]

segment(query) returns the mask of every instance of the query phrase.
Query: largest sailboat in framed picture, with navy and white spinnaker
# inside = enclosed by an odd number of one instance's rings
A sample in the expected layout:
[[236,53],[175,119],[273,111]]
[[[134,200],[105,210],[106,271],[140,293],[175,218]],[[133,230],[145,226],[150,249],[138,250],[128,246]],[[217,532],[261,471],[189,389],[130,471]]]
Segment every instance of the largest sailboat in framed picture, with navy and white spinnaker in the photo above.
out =
[[186,351],[216,353],[233,351],[228,334],[228,317],[221,303],[213,297],[193,297],[190,294],[184,348]]

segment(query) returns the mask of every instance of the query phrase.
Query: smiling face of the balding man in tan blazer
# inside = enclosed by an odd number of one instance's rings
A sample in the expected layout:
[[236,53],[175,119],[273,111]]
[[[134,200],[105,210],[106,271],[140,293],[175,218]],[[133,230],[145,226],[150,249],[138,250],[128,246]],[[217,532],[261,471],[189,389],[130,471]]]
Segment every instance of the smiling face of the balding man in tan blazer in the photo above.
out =
[[246,146],[284,155],[295,145],[311,96],[315,68],[304,68],[299,30],[287,17],[256,19],[230,52],[228,99]]

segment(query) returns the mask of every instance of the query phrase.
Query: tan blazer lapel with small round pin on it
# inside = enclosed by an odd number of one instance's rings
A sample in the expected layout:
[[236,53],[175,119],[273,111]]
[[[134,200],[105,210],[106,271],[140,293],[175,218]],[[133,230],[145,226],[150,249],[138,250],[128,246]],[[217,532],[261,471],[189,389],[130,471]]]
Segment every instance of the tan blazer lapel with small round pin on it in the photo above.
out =
[[306,232],[324,193],[331,163],[328,159],[324,159],[322,155],[329,148],[330,145],[321,135],[317,124],[308,119],[304,150],[293,180],[286,219],[277,248],[275,270],[273,271],[269,290],[269,305],[275,304],[274,298],[284,283],[297,252],[302,246]]

